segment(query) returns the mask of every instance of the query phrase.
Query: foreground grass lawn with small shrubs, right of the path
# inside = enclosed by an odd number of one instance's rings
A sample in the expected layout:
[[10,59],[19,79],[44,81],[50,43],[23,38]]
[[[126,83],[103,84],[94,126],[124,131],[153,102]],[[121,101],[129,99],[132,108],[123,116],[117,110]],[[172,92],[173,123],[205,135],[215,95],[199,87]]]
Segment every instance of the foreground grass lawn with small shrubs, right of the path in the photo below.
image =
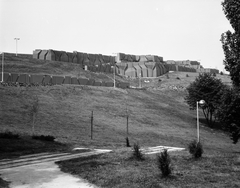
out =
[[236,153],[205,154],[193,159],[187,151],[170,152],[172,174],[162,178],[157,156],[131,159],[131,149],[59,162],[62,171],[100,187],[240,187],[240,157]]

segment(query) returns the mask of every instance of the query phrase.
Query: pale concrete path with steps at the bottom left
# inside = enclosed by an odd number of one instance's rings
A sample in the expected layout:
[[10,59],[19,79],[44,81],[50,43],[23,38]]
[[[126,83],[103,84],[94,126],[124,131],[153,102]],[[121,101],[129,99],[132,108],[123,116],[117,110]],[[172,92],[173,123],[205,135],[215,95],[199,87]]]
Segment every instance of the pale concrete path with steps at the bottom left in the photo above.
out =
[[62,172],[54,162],[99,155],[110,150],[93,150],[85,153],[41,153],[26,155],[14,160],[0,161],[2,179],[11,182],[11,188],[93,188],[87,181]]

